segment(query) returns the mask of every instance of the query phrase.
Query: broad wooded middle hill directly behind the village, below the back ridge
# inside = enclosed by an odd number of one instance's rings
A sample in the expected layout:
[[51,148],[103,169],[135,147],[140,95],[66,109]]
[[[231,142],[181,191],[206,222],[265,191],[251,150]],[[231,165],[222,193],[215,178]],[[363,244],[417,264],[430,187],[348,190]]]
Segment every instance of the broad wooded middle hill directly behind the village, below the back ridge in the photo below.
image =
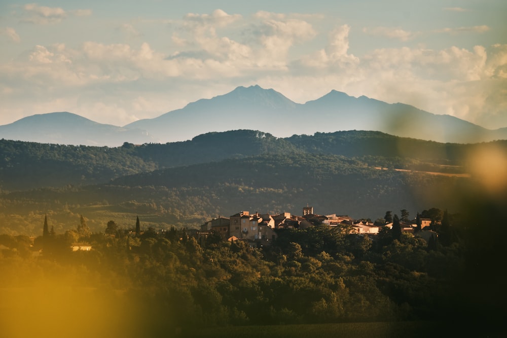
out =
[[[136,215],[157,229],[196,228],[240,210],[300,215],[307,203],[318,213],[374,220],[386,210],[454,212],[456,196],[468,193],[470,182],[454,175],[379,170],[337,155],[259,155],[139,173],[107,184],[4,193],[0,226],[38,233],[37,217],[48,212],[57,232],[65,232],[80,214],[94,231],[110,219],[128,227]],[[2,213],[24,216],[2,220]]]

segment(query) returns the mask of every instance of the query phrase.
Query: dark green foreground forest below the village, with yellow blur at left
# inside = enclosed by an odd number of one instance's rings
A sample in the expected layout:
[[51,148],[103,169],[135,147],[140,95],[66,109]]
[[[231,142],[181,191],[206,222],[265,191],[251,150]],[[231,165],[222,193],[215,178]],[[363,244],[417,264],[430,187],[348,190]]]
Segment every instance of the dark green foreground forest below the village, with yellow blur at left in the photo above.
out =
[[[501,215],[492,204],[477,211],[489,213],[485,221]],[[495,249],[484,251],[481,241],[501,241],[478,237],[470,228],[478,217],[469,214],[422,215],[438,219],[438,240],[387,227],[368,237],[317,225],[279,230],[260,248],[185,229],[157,233],[142,222],[138,231],[134,220],[130,229],[111,220],[92,233],[81,217],[58,234],[46,218],[33,246],[27,236],[0,235],[7,276],[0,280],[0,327],[11,337],[29,335],[31,327],[39,336],[100,337],[206,336],[206,329],[224,327],[216,336],[228,336],[230,325],[409,322],[417,327],[405,329],[409,336],[500,336],[505,296],[488,262]],[[93,249],[71,251],[73,241]],[[396,336],[365,336],[372,335]]]

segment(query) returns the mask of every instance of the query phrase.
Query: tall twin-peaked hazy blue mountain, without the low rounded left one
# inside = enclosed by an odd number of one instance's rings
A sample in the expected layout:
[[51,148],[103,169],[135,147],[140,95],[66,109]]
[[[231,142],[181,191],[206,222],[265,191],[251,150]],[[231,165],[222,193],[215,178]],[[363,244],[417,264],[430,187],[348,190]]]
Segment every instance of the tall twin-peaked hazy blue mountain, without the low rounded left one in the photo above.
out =
[[340,130],[371,130],[438,142],[474,143],[507,138],[504,130],[488,130],[449,115],[414,106],[338,91],[305,104],[273,89],[238,87],[232,92],[189,103],[182,109],[133,122],[125,128],[147,130],[162,142],[191,139],[211,131],[255,129],[277,137]]

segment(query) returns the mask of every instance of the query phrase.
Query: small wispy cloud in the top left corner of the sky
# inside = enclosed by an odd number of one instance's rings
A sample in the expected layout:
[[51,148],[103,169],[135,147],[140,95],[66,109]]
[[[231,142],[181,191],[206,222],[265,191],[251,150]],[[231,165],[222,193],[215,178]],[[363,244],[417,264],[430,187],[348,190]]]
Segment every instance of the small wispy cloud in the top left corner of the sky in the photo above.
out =
[[66,12],[60,7],[46,7],[39,6],[38,4],[26,4],[23,6],[25,15],[22,19],[23,22],[33,24],[53,24],[59,23],[71,16],[88,16],[91,15],[91,10],[74,10]]

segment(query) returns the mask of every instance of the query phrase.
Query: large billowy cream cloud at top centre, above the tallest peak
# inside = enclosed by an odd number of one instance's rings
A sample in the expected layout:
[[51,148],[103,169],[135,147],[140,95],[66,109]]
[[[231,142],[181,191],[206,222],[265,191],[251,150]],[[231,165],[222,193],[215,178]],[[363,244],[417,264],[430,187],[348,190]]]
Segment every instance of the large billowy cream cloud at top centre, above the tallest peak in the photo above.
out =
[[258,12],[240,20],[240,15],[222,10],[187,14],[179,26],[175,25],[171,41],[177,50],[168,59],[191,59],[201,64],[204,74],[218,71],[227,77],[284,71],[290,59],[289,50],[316,35],[310,23],[295,17]]

